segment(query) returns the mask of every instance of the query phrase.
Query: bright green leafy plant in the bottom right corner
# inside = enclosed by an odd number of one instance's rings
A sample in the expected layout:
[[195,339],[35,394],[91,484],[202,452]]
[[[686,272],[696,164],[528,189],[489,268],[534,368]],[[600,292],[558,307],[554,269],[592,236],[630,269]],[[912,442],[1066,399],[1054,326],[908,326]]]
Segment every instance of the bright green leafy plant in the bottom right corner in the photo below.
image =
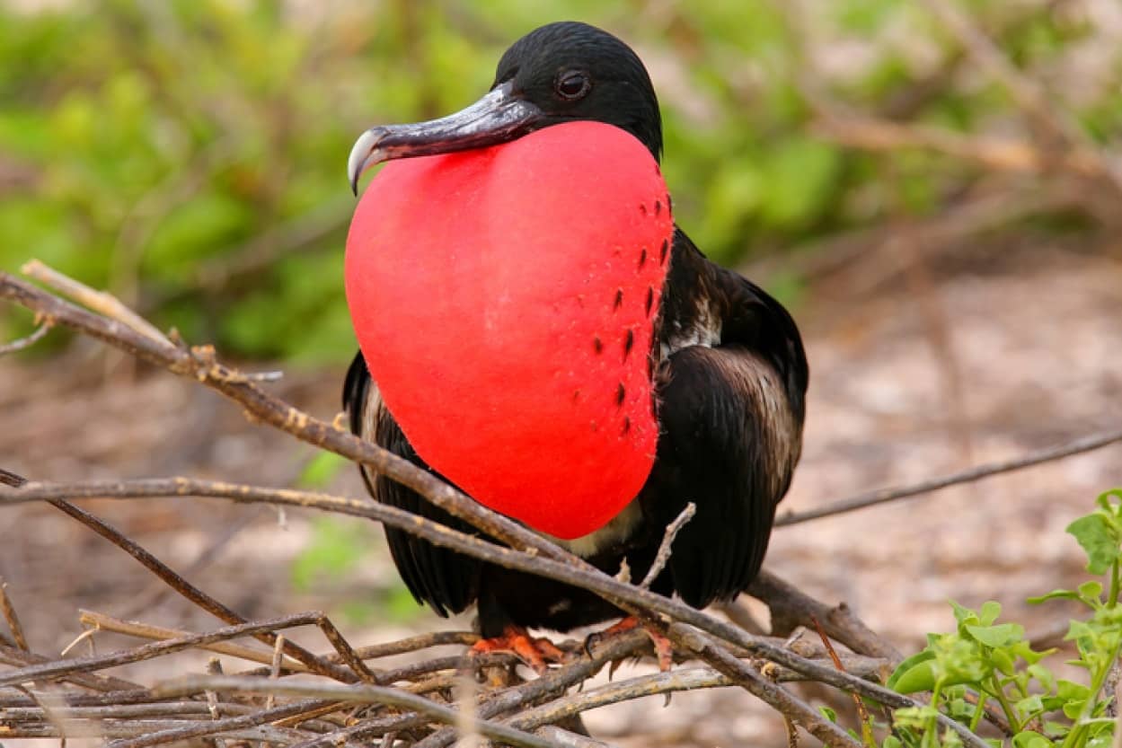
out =
[[1078,654],[1069,664],[1086,671],[1089,685],[1057,677],[1048,666],[1056,650],[1037,652],[1022,626],[997,622],[999,603],[985,602],[975,611],[951,602],[955,631],[929,635],[927,647],[889,678],[889,687],[900,693],[929,692],[930,704],[895,710],[886,748],[962,745],[954,732],[940,731],[936,717],[945,714],[975,730],[987,704],[995,704],[1009,722],[1017,748],[1111,745],[1115,720],[1105,711],[1114,694],[1103,693],[1103,685],[1122,649],[1122,491],[1098,497],[1095,511],[1067,530],[1087,553],[1087,570],[1109,575],[1109,592],[1104,595],[1103,584],[1091,580],[1030,602],[1074,600],[1086,608],[1087,616],[1072,621],[1066,638]]

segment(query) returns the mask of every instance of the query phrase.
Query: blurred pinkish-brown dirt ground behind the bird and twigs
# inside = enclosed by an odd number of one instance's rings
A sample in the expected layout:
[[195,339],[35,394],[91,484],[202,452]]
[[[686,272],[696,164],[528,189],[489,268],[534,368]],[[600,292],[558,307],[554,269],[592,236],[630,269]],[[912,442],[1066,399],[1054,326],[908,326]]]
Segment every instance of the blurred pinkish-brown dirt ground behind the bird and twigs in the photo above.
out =
[[[928,290],[807,303],[811,362],[802,463],[783,510],[1020,454],[1122,423],[1122,264],[1041,253],[1003,271],[959,274]],[[901,289],[902,288],[902,289]],[[825,295],[824,295],[825,296]],[[288,371],[276,388],[330,418],[339,371]],[[255,426],[237,408],[171,375],[135,369],[81,341],[35,366],[0,360],[0,465],[33,479],[190,474],[285,486],[312,451]],[[767,565],[827,601],[847,601],[904,650],[946,630],[946,603],[995,599],[1030,631],[1065,620],[1024,598],[1083,579],[1065,526],[1122,484],[1122,446],[908,501],[776,530]],[[334,490],[358,495],[351,470]],[[246,617],[324,609],[398,588],[380,532],[360,528],[368,560],[311,590],[294,560],[313,543],[309,516],[221,501],[93,501],[116,524]],[[168,627],[215,626],[166,594],[134,561],[44,506],[0,510],[0,575],[31,645],[55,654],[88,608]],[[348,620],[371,644],[448,628],[431,613]],[[453,627],[467,627],[467,618]],[[309,632],[301,641],[322,641]],[[136,644],[99,635],[101,650]],[[197,655],[181,659],[197,667]],[[166,665],[165,665],[166,666]],[[151,671],[132,675],[159,676]],[[625,746],[785,744],[782,723],[744,693],[679,694],[590,713],[594,735]],[[9,742],[9,748],[18,741]]]

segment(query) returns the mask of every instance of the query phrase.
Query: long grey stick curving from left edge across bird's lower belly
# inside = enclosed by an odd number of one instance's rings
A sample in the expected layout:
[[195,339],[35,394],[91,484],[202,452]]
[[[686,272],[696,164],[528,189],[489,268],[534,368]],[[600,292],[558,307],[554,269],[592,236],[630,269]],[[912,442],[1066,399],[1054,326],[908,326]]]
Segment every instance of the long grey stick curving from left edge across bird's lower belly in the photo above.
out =
[[[234,501],[272,502],[286,506],[335,511],[356,517],[366,517],[381,521],[392,527],[404,529],[435,545],[458,551],[482,561],[522,571],[540,576],[554,579],[574,587],[580,587],[611,600],[623,601],[633,609],[649,609],[671,619],[696,626],[697,628],[738,647],[755,656],[771,659],[793,671],[828,685],[855,691],[890,707],[919,707],[919,702],[894,691],[874,685],[847,673],[839,673],[830,667],[812,662],[775,645],[761,637],[755,637],[738,627],[691,608],[680,600],[664,598],[649,590],[622,583],[599,571],[587,571],[540,555],[530,554],[513,548],[489,543],[475,535],[460,533],[450,527],[433,523],[423,517],[410,514],[396,507],[368,501],[355,501],[339,497],[296,491],[292,489],[265,489],[256,486],[239,486],[215,481],[188,480],[185,478],[147,480],[147,481],[113,481],[103,483],[49,484],[31,483],[18,491],[0,491],[0,506],[8,502],[25,502],[28,500],[49,500],[54,496],[102,497],[102,498],[139,498],[145,496],[206,496],[229,498]],[[732,655],[729,655],[732,657]],[[0,680],[0,685],[3,681]],[[966,745],[984,748],[984,744],[972,732],[957,722],[940,715],[940,723],[955,730]]]

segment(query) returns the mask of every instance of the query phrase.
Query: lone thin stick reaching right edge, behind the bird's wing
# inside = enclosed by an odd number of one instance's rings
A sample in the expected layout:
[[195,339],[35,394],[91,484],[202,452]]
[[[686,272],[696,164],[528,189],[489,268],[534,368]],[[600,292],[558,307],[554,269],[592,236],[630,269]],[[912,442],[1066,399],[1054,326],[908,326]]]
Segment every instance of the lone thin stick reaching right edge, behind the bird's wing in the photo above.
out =
[[840,515],[847,511],[854,511],[855,509],[864,509],[865,507],[876,506],[877,504],[886,504],[889,501],[911,498],[913,496],[919,496],[920,493],[932,493],[950,486],[969,483],[991,475],[1000,475],[1001,473],[1013,472],[1014,470],[1032,468],[1033,465],[1039,465],[1045,462],[1063,460],[1064,458],[1069,458],[1073,454],[1093,452],[1094,450],[1101,450],[1104,446],[1110,446],[1111,444],[1116,444],[1119,442],[1122,442],[1122,428],[1092,434],[1089,436],[1080,436],[1079,438],[1072,440],[1070,442],[1054,444],[1052,446],[1037,450],[1036,452],[1029,452],[1028,454],[1022,454],[1017,458],[997,460],[984,465],[977,465],[976,468],[960,470],[948,475],[930,478],[911,486],[903,486],[900,488],[882,488],[866,493],[858,493],[857,496],[843,499],[840,501],[834,501],[824,507],[819,507],[818,509],[809,509],[807,511],[789,511],[776,517],[775,526],[784,527],[787,525],[797,525],[799,523],[810,521],[811,519]]

